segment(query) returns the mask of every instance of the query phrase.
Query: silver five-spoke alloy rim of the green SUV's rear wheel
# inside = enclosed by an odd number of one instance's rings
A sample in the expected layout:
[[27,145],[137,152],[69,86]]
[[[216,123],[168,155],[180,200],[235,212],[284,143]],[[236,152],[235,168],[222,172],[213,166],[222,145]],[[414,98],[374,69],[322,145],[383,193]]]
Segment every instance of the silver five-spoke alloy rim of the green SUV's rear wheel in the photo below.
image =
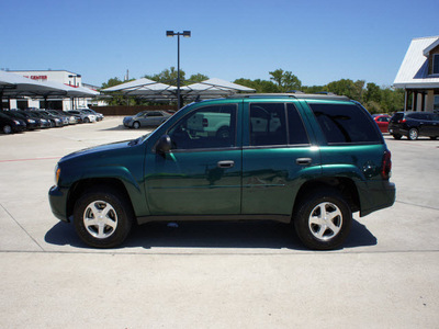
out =
[[330,202],[323,202],[314,207],[308,218],[309,230],[319,240],[326,241],[341,229],[341,211]]

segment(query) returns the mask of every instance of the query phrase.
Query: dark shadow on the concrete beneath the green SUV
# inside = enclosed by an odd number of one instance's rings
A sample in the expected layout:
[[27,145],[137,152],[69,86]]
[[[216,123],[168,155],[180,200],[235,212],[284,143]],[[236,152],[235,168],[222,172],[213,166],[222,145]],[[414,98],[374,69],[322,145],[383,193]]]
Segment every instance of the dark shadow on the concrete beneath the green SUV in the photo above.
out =
[[[76,235],[72,225],[58,223],[45,241],[50,245],[90,248]],[[376,245],[367,227],[352,220],[341,249]],[[306,250],[290,225],[275,222],[180,222],[136,226],[119,248],[267,248]]]

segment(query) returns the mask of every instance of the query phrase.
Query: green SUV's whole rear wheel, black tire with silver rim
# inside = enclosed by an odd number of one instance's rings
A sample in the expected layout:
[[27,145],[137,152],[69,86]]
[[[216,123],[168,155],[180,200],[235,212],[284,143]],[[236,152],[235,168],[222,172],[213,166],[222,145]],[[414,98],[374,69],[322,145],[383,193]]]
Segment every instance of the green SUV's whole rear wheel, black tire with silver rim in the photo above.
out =
[[[323,209],[328,212],[324,224],[319,223]],[[352,212],[338,191],[322,189],[300,201],[293,220],[299,238],[307,248],[330,250],[340,247],[348,236]]]

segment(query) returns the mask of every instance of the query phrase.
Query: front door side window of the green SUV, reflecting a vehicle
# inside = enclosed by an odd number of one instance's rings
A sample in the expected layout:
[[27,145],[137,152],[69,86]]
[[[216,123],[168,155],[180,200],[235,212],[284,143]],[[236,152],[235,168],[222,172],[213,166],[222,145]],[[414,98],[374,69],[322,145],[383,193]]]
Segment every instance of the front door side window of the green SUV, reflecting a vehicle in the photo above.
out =
[[236,104],[224,104],[189,113],[168,133],[172,150],[236,146]]

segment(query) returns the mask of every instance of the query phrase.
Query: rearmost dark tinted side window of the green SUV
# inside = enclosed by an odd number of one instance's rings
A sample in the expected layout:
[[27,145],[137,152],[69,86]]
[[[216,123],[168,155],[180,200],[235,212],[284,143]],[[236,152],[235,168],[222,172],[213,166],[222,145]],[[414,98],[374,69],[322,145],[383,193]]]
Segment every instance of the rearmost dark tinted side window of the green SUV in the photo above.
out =
[[381,143],[370,115],[354,104],[309,104],[329,144]]

